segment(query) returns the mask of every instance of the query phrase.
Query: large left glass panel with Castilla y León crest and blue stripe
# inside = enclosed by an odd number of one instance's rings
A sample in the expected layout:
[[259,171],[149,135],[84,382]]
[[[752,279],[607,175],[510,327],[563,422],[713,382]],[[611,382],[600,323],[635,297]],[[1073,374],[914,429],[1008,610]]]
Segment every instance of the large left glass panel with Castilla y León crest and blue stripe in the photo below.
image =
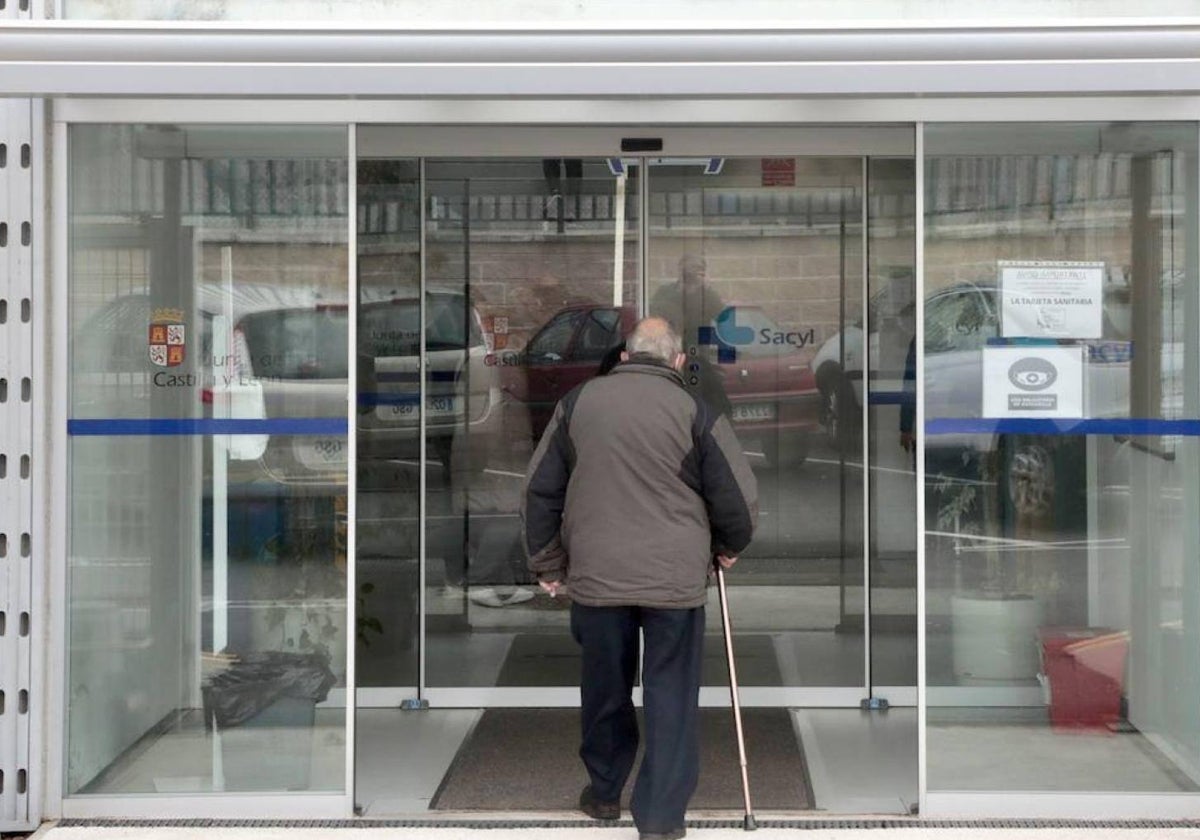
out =
[[346,132],[70,140],[66,790],[341,791]]

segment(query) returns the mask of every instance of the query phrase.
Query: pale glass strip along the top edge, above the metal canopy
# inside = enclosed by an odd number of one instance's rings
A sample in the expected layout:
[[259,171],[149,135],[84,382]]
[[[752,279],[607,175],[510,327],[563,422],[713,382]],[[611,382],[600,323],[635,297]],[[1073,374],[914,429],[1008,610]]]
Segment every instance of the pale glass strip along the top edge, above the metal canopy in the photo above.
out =
[[[736,10],[736,11],[734,11]],[[850,4],[839,0],[748,0],[737,6],[706,7],[704,18],[712,23],[760,20],[769,24],[803,24],[824,20],[898,20],[914,19],[1058,19],[1058,18],[1128,18],[1128,17],[1190,17],[1195,8],[1189,0],[1154,0],[1144,6],[1130,6],[1118,0],[997,0],[990,4],[956,5],[948,14],[941,0],[865,0]],[[64,14],[74,19],[119,20],[376,20],[426,22],[461,24],[518,23],[535,20],[611,23],[612,20],[654,20],[692,24],[695,4],[689,0],[551,0],[522,8],[476,0],[470,4],[452,0],[376,0],[373,2],[338,2],[329,0],[64,0]]]

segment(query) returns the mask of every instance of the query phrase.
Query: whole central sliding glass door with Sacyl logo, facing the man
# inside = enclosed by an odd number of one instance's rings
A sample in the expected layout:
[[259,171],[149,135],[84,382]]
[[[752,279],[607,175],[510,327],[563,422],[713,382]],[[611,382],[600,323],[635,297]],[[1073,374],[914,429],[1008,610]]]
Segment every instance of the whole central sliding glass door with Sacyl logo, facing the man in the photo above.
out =
[[[358,178],[360,702],[577,702],[566,605],[524,569],[521,482],[558,398],[641,313],[680,328],[690,386],[758,478],[731,575],[746,701],[914,684],[911,157],[376,155]],[[872,641],[895,653],[882,682]]]

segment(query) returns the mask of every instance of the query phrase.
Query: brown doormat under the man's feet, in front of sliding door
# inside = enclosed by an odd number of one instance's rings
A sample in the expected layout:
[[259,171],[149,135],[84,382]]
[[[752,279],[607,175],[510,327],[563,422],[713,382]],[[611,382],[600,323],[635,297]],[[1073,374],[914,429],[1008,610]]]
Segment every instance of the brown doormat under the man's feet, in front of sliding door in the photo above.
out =
[[[642,725],[641,710],[638,724]],[[787,709],[742,709],[750,796],[756,810],[812,808],[804,752]],[[642,726],[644,731],[644,726]],[[430,808],[443,811],[571,811],[587,772],[578,757],[578,709],[487,709],[458,749]],[[638,750],[637,762],[641,762]],[[623,808],[637,778],[625,785]],[[744,808],[733,713],[700,710],[700,785],[694,810]]]

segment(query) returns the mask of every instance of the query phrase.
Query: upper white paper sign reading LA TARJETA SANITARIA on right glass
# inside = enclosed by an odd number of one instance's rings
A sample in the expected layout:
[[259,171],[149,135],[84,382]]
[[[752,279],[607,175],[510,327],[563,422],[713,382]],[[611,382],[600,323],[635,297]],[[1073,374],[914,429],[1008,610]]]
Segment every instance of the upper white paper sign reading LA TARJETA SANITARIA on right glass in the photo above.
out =
[[1099,338],[1104,263],[1000,263],[1001,335]]

